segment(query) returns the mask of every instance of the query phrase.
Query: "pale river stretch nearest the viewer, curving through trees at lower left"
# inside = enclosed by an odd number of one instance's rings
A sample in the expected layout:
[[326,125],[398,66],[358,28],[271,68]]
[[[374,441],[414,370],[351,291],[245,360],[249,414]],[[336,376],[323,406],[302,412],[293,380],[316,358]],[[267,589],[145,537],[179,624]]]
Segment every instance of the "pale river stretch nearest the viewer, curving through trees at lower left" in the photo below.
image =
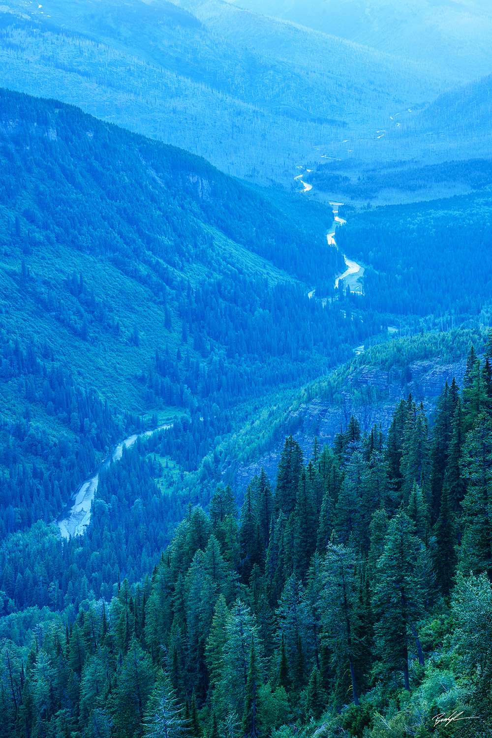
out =
[[97,470],[83,481],[77,492],[75,492],[74,497],[72,497],[72,503],[58,517],[57,525],[60,528],[60,534],[63,538],[69,539],[72,536],[83,536],[86,532],[86,528],[91,522],[91,505],[92,500],[94,500],[94,494],[96,494],[97,485],[99,484],[99,472],[101,469],[109,466],[113,461],[119,461],[122,458],[123,446],[125,449],[129,449],[130,446],[134,445],[137,438],[148,438],[158,430],[164,430],[170,427],[170,424],[159,425],[159,427],[153,430],[134,433],[134,435],[125,438],[125,441],[122,441],[116,446],[111,456],[105,458],[103,463],[97,467]]

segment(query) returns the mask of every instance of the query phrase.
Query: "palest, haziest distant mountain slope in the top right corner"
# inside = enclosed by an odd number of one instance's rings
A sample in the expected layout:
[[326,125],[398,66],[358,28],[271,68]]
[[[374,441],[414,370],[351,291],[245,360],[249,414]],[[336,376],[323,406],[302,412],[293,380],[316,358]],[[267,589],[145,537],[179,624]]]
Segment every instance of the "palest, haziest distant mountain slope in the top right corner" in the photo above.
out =
[[229,0],[463,79],[491,71],[488,0]]

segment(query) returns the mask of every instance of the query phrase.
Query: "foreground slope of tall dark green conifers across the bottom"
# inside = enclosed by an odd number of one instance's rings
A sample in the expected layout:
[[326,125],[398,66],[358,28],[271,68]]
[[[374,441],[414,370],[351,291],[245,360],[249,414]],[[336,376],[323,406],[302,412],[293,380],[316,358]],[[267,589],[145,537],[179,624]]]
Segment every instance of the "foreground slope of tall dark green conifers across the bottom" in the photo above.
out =
[[[492,334],[461,387],[443,387],[433,427],[409,396],[386,434],[351,417],[307,455],[289,436],[274,489],[261,470],[238,508],[218,486],[112,597],[89,590],[114,554],[106,531],[92,554],[90,539],[78,555],[52,545],[55,613],[32,549],[16,578],[18,552],[2,549],[1,737],[429,738],[459,717],[457,734],[488,738],[491,355]],[[78,609],[58,589],[67,565]]]

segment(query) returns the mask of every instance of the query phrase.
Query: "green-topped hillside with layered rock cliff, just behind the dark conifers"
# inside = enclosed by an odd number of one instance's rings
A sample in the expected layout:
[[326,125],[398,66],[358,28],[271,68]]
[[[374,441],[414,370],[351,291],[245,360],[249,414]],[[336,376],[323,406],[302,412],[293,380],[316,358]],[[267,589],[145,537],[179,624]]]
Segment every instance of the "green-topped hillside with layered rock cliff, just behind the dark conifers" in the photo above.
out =
[[333,446],[352,415],[362,433],[377,426],[386,434],[395,407],[409,395],[423,403],[433,421],[446,382],[451,384],[454,378],[462,384],[471,344],[481,354],[486,338],[479,328],[462,327],[447,333],[397,336],[368,347],[328,376],[297,393],[285,393],[276,407],[258,413],[254,437],[250,427],[235,434],[227,478],[240,493],[262,467],[274,480],[287,435],[293,436],[308,459],[315,438],[320,448]]

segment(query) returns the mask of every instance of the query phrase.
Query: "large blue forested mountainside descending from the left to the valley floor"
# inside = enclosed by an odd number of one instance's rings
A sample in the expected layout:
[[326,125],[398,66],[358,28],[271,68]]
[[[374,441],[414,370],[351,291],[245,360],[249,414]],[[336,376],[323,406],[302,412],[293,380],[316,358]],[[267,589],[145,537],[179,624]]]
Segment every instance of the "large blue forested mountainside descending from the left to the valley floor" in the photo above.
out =
[[[118,568],[135,579],[181,517],[164,492],[176,475],[268,394],[324,373],[381,325],[308,297],[343,268],[325,238],[331,210],[267,197],[58,101],[0,96],[0,535],[22,557],[30,531],[36,557],[53,559],[56,537],[40,542],[32,526],[58,517],[116,441],[170,418],[159,455],[125,472],[124,525],[111,494],[101,519],[115,547],[138,500],[157,526],[131,556],[116,547],[97,586]],[[61,576],[46,566],[38,584]]]

